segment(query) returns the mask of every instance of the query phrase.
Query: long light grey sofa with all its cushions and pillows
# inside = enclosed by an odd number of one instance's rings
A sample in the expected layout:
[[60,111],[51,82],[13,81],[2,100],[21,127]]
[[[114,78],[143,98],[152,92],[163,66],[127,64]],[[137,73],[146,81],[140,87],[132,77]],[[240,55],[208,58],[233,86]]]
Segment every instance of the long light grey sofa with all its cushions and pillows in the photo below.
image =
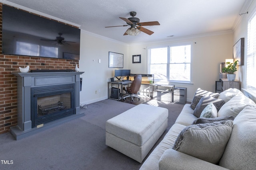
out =
[[255,168],[256,104],[237,89],[214,94],[198,88],[140,170]]

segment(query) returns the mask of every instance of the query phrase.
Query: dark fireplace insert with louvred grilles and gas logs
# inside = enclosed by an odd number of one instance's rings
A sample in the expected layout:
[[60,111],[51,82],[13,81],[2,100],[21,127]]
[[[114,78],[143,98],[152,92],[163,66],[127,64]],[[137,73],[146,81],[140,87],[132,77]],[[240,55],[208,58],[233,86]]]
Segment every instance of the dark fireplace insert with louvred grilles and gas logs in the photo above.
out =
[[32,128],[75,114],[75,85],[31,88]]

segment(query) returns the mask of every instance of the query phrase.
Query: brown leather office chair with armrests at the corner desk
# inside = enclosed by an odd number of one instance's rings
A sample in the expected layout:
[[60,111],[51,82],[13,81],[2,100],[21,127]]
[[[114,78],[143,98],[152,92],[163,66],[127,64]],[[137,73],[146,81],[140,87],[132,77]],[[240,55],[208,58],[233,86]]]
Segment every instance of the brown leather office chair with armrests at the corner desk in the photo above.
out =
[[127,84],[124,85],[123,89],[126,91],[126,93],[129,94],[129,96],[124,97],[124,100],[125,98],[128,98],[128,97],[130,97],[132,101],[134,97],[140,100],[140,97],[136,96],[136,94],[138,94],[138,91],[140,90],[141,80],[142,80],[142,76],[138,74],[134,76],[134,80],[130,87],[127,87]]

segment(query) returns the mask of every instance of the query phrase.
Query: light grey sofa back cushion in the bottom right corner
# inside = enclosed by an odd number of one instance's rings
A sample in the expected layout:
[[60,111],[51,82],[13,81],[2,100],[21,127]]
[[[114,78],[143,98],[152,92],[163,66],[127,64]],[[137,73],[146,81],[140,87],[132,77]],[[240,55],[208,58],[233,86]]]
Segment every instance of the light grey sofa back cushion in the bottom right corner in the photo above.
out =
[[234,127],[220,166],[236,170],[256,168],[256,107],[246,106],[234,119]]

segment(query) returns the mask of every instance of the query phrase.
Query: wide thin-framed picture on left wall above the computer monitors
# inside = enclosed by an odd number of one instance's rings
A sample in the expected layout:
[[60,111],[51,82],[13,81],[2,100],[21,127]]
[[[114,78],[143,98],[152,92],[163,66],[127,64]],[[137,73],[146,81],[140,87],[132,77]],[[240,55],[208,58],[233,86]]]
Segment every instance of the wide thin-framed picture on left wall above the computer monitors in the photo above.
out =
[[109,68],[124,68],[124,55],[120,53],[108,52]]

